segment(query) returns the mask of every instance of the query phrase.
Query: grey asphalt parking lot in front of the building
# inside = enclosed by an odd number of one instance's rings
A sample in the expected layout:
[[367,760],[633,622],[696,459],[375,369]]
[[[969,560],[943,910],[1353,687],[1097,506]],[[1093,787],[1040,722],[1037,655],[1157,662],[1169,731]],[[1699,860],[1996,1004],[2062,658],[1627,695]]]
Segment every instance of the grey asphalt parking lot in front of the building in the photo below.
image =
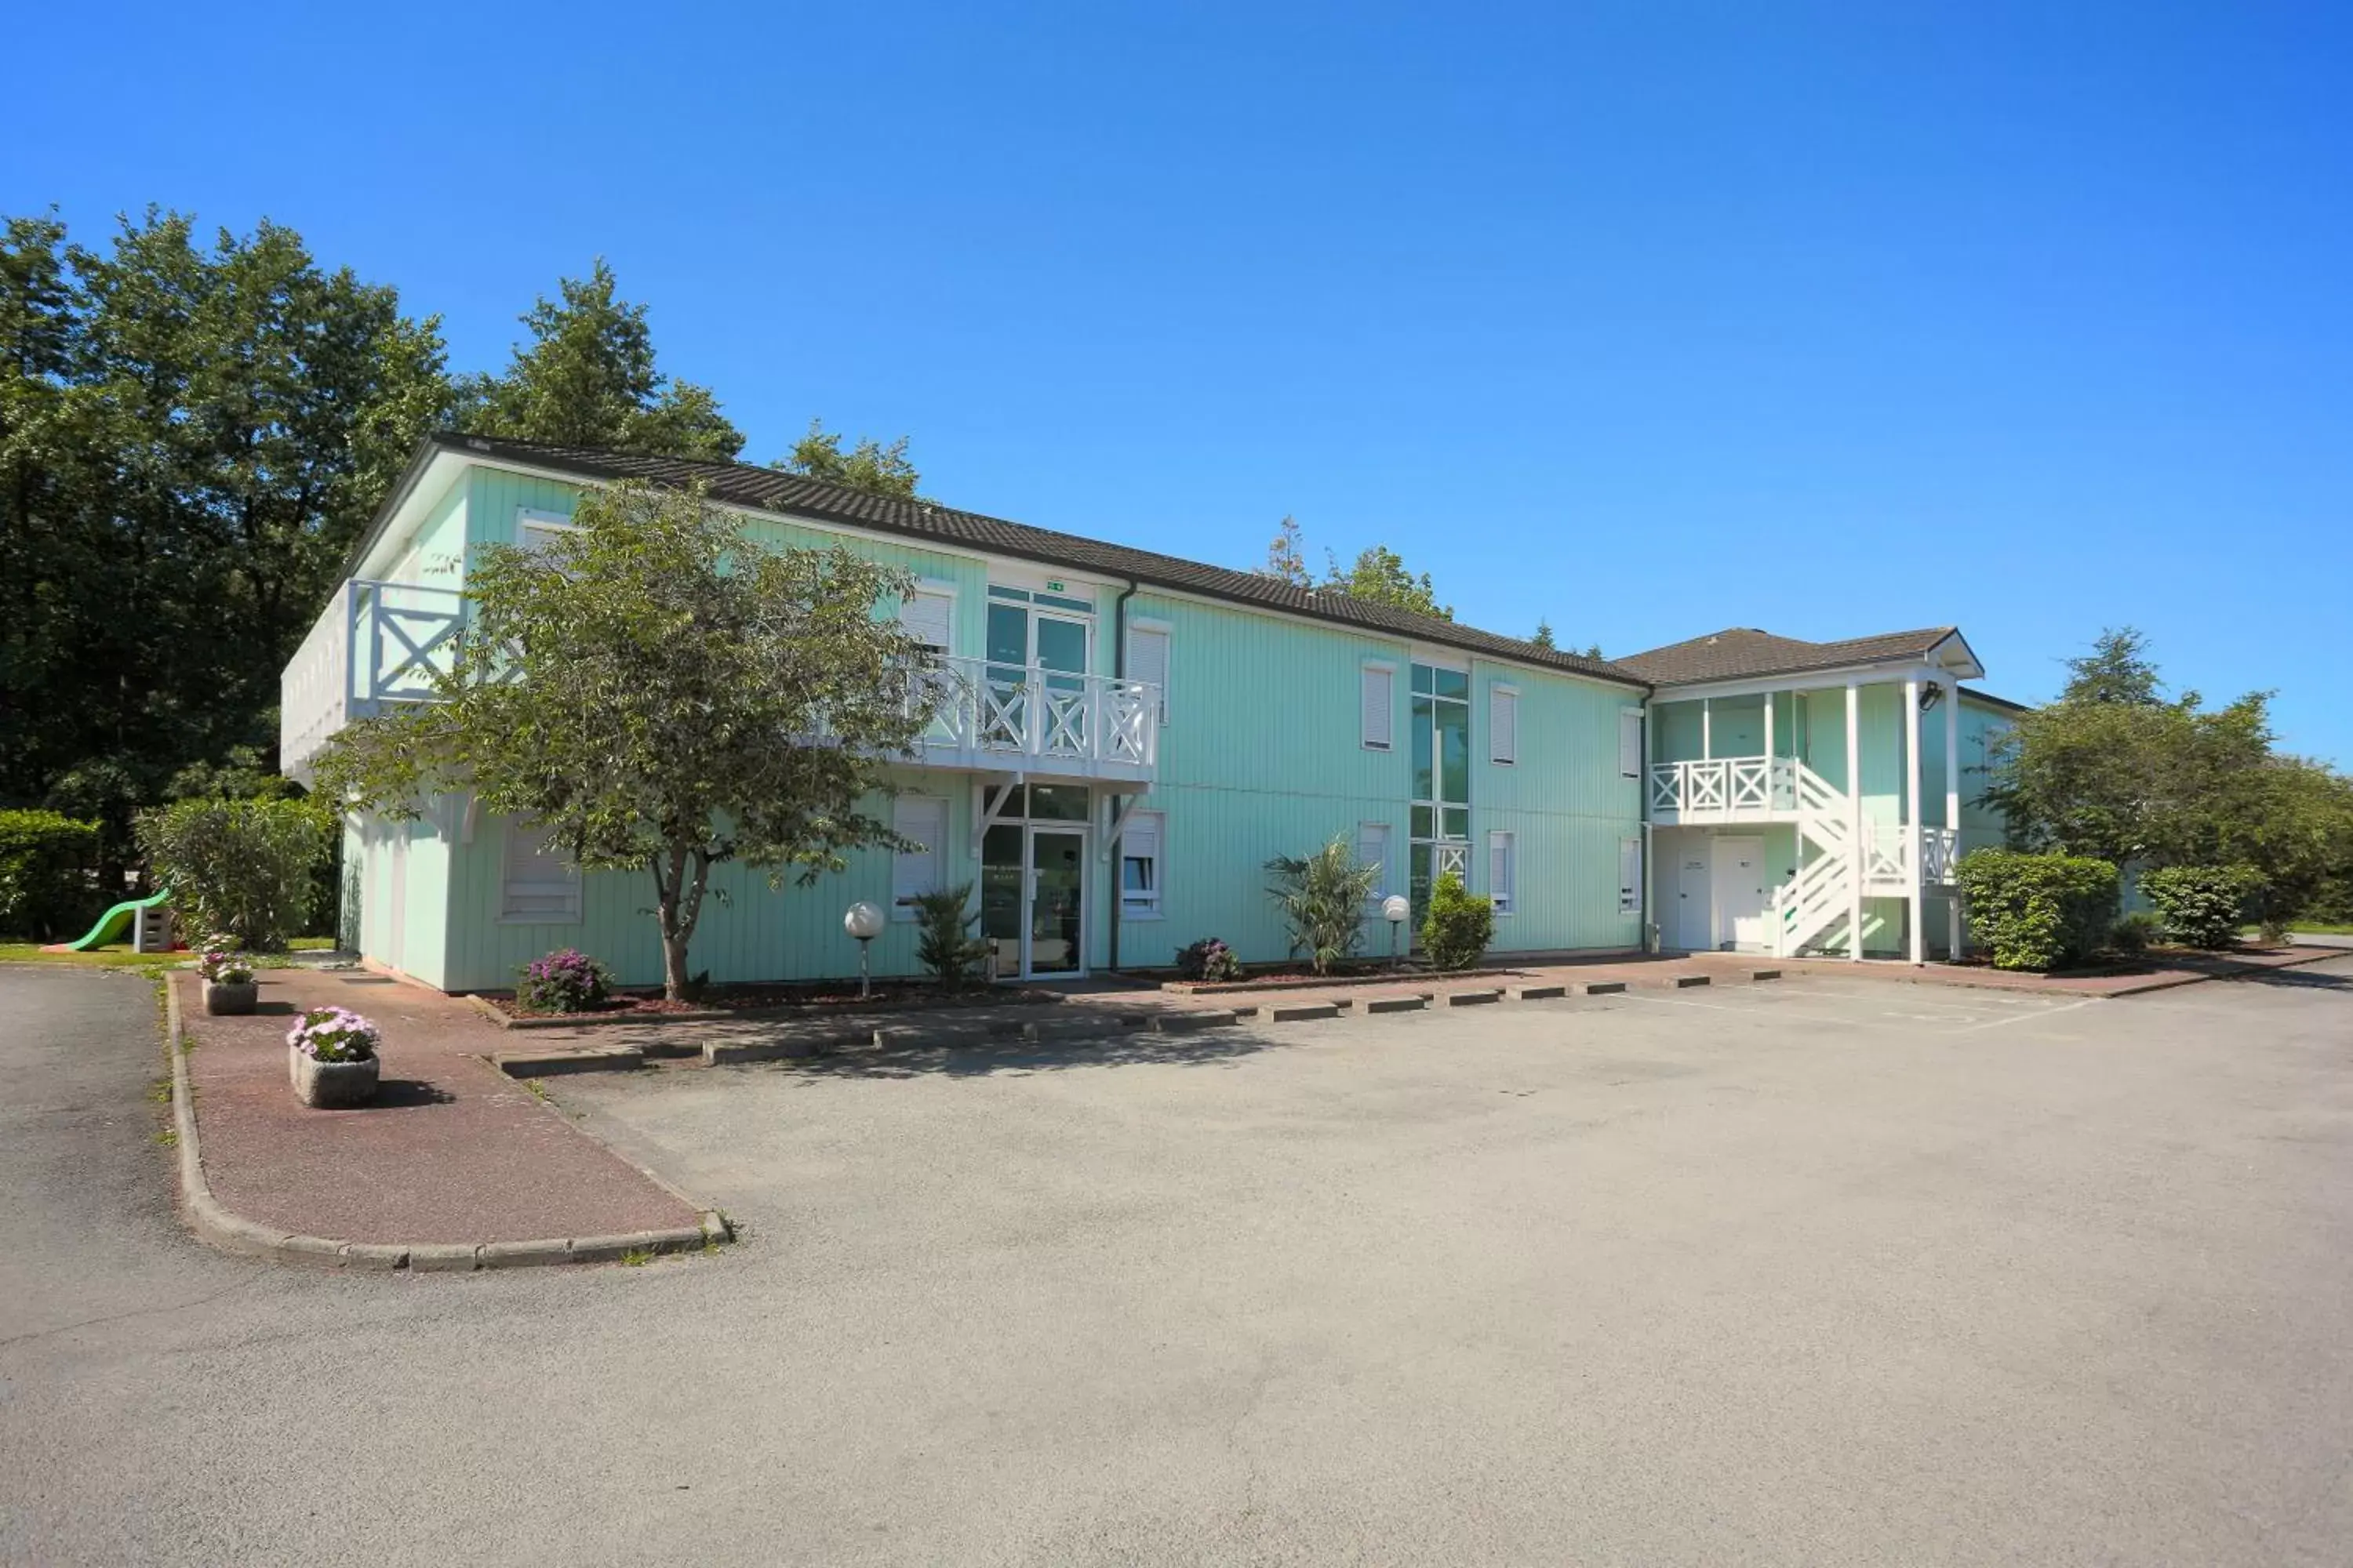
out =
[[2353,959],[581,1077],[551,1086],[584,1126],[746,1239],[416,1279],[188,1241],[153,1037],[106,1044],[144,987],[33,992],[0,1039],[0,1561],[2353,1540]]

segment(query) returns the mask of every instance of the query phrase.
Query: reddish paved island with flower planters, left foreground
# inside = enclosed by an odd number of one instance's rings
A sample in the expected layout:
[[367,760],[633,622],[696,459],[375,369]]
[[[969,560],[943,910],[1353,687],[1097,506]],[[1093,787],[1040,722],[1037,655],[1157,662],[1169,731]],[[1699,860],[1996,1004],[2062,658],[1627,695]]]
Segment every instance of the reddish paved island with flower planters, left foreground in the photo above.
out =
[[[478,1053],[506,1039],[473,1009],[358,971],[264,969],[252,1018],[209,1018],[169,976],[195,1051],[198,1147],[224,1208],[341,1241],[475,1244],[612,1237],[696,1211],[569,1126]],[[287,1084],[292,1016],[341,1004],[384,1030],[367,1110],[308,1110]]]

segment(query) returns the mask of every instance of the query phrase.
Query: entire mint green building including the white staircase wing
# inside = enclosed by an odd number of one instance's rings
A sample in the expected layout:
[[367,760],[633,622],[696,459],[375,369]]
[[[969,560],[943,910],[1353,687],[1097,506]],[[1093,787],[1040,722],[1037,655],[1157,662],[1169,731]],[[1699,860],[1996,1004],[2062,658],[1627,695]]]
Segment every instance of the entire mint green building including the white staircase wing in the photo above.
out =
[[[569,527],[619,477],[701,482],[765,543],[904,567],[896,614],[955,677],[889,802],[925,849],[781,891],[713,867],[727,898],[694,961],[715,980],[854,973],[854,900],[892,910],[875,971],[913,973],[908,900],[960,884],[1000,978],[1158,969],[1205,936],[1282,959],[1261,867],[1334,835],[1381,865],[1367,952],[1393,936],[1384,896],[1419,919],[1454,870],[1494,900],[1497,954],[1918,959],[1953,943],[1953,853],[1998,837],[1962,776],[2009,705],[1960,691],[1981,670],[1951,628],[1720,632],[1607,663],[767,468],[454,435],[419,449],[287,665],[280,766],[306,778],[344,722],[424,701],[473,552]],[[351,818],[344,849],[344,940],[386,971],[504,990],[581,947],[626,983],[661,976],[645,875],[579,875],[464,795]]]

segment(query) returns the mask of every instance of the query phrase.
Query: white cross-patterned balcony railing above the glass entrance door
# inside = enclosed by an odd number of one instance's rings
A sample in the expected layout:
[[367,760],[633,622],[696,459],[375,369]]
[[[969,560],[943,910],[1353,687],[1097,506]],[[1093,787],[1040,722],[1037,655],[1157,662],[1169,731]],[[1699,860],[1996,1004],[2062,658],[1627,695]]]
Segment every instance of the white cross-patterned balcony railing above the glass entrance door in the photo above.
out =
[[929,762],[1080,778],[1151,778],[1160,686],[986,658],[944,658],[922,745]]

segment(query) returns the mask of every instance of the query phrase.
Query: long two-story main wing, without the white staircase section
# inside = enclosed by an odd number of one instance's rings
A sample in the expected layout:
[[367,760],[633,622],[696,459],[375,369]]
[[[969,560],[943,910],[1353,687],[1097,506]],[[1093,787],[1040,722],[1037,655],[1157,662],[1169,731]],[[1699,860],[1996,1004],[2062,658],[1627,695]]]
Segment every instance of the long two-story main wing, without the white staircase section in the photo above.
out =
[[[816,886],[713,867],[694,964],[715,980],[840,976],[852,900],[892,907],[882,973],[911,973],[908,900],[974,886],[1000,976],[1169,964],[1219,936],[1285,957],[1266,860],[1346,835],[1417,910],[1454,870],[1497,905],[1501,954],[1633,950],[1642,905],[1649,682],[1595,658],[1337,592],[871,496],[744,463],[435,437],[384,503],[287,665],[280,766],[306,778],[348,719],[426,701],[489,543],[569,524],[584,487],[708,489],[767,545],[845,543],[906,569],[896,607],[951,701],[894,776],[920,851],[854,856]],[[445,990],[513,985],[581,947],[659,978],[645,875],[579,875],[529,823],[461,795],[346,827],[346,940]],[[1419,919],[1419,914],[1417,914]]]

